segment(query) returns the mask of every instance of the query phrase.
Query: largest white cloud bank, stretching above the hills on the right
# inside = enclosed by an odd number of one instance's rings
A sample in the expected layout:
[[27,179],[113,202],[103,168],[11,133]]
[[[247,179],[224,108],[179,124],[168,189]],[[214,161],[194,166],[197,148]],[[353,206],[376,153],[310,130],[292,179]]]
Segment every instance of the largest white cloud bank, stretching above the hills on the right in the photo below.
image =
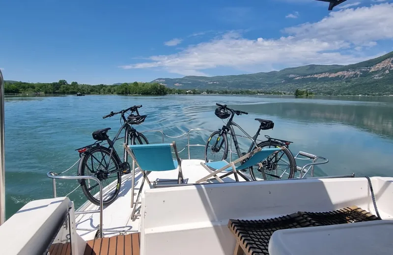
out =
[[206,69],[217,67],[271,71],[274,65],[355,63],[374,57],[357,47],[393,39],[392,13],[393,4],[388,3],[334,11],[319,22],[285,28],[286,36],[278,39],[252,40],[229,32],[178,53],[150,56],[150,61],[122,68],[162,68],[181,75],[205,75]]

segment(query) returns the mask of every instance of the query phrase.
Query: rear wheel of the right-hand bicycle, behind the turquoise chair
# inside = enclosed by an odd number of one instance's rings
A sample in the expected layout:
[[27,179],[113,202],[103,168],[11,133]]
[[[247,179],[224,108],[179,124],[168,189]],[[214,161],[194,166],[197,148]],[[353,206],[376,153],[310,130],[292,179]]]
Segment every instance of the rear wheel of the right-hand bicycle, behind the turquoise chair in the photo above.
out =
[[[257,145],[262,149],[282,146],[284,145],[276,141],[263,141]],[[291,179],[295,176],[296,160],[287,147],[279,153],[268,156],[261,163],[262,169],[258,165],[250,168],[253,180]]]

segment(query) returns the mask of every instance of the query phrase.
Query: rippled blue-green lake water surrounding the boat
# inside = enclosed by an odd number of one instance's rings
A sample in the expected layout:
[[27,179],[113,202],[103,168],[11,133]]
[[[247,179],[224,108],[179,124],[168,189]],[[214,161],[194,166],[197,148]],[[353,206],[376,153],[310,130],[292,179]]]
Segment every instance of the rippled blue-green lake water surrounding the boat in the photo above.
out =
[[[79,158],[74,150],[91,144],[92,131],[120,127],[119,116],[102,119],[111,111],[142,104],[146,121],[139,131],[162,129],[170,136],[190,128],[218,129],[223,122],[214,115],[215,103],[248,111],[234,121],[250,134],[258,128],[254,118],[271,119],[273,130],[261,133],[293,141],[292,153],[306,151],[330,159],[316,169],[316,176],[356,173],[358,176],[393,176],[393,97],[330,97],[295,99],[261,96],[64,96],[5,99],[6,217],[34,199],[50,198],[48,171],[61,172]],[[191,143],[204,144],[209,132],[197,132]],[[157,134],[148,133],[151,142]],[[184,148],[186,137],[167,139]],[[121,142],[120,142],[121,143]],[[120,143],[118,144],[120,146]],[[244,147],[248,141],[242,141]],[[192,148],[192,158],[202,158],[203,148]],[[181,153],[187,158],[187,150]],[[76,174],[76,168],[69,172]],[[58,196],[77,187],[76,180],[57,182]],[[84,201],[78,189],[70,195],[76,207]]]

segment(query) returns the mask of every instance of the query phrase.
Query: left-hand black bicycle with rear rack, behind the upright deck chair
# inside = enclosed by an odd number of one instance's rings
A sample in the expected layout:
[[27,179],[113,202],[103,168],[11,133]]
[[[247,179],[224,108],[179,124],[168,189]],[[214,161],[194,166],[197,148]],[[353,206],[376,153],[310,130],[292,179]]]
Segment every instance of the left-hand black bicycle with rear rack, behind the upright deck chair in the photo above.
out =
[[[149,143],[143,134],[139,133],[132,127],[132,125],[142,124],[147,117],[147,115],[139,114],[138,108],[140,107],[142,107],[142,105],[134,105],[128,109],[121,110],[119,112],[111,112],[110,114],[102,117],[105,119],[116,114],[121,114],[120,124],[122,122],[123,124],[117,131],[113,140],[111,140],[107,134],[108,130],[111,128],[96,130],[92,133],[93,139],[96,140],[96,142],[76,150],[79,152],[79,156],[81,157],[78,165],[78,176],[94,176],[101,181],[103,188],[106,188],[106,192],[103,195],[104,205],[113,203],[120,191],[121,176],[131,172],[131,167],[128,163],[128,154],[125,149],[123,162],[120,160],[120,156],[114,149],[115,142],[123,138],[119,137],[122,130],[125,130],[124,143],[126,145]],[[126,113],[129,114],[127,117],[125,116]],[[108,143],[108,146],[101,145],[104,141]],[[112,183],[114,179],[117,179],[115,184]],[[97,196],[95,196],[99,192],[98,183],[90,185],[88,180],[80,179],[78,181],[82,186],[82,191],[86,198],[91,203],[99,205],[100,201],[97,199]],[[112,186],[109,187],[109,185]]]

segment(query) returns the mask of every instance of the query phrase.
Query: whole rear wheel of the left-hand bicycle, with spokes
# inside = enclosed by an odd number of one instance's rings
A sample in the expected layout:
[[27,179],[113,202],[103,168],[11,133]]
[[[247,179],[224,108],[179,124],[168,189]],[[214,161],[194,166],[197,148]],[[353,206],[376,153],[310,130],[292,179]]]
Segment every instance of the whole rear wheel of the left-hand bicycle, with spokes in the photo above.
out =
[[[95,147],[89,153],[82,155],[78,166],[79,176],[93,176],[101,181],[103,188],[103,204],[114,202],[120,191],[121,162],[114,152],[106,147]],[[100,186],[93,180],[80,180],[82,191],[93,204],[100,204]]]

